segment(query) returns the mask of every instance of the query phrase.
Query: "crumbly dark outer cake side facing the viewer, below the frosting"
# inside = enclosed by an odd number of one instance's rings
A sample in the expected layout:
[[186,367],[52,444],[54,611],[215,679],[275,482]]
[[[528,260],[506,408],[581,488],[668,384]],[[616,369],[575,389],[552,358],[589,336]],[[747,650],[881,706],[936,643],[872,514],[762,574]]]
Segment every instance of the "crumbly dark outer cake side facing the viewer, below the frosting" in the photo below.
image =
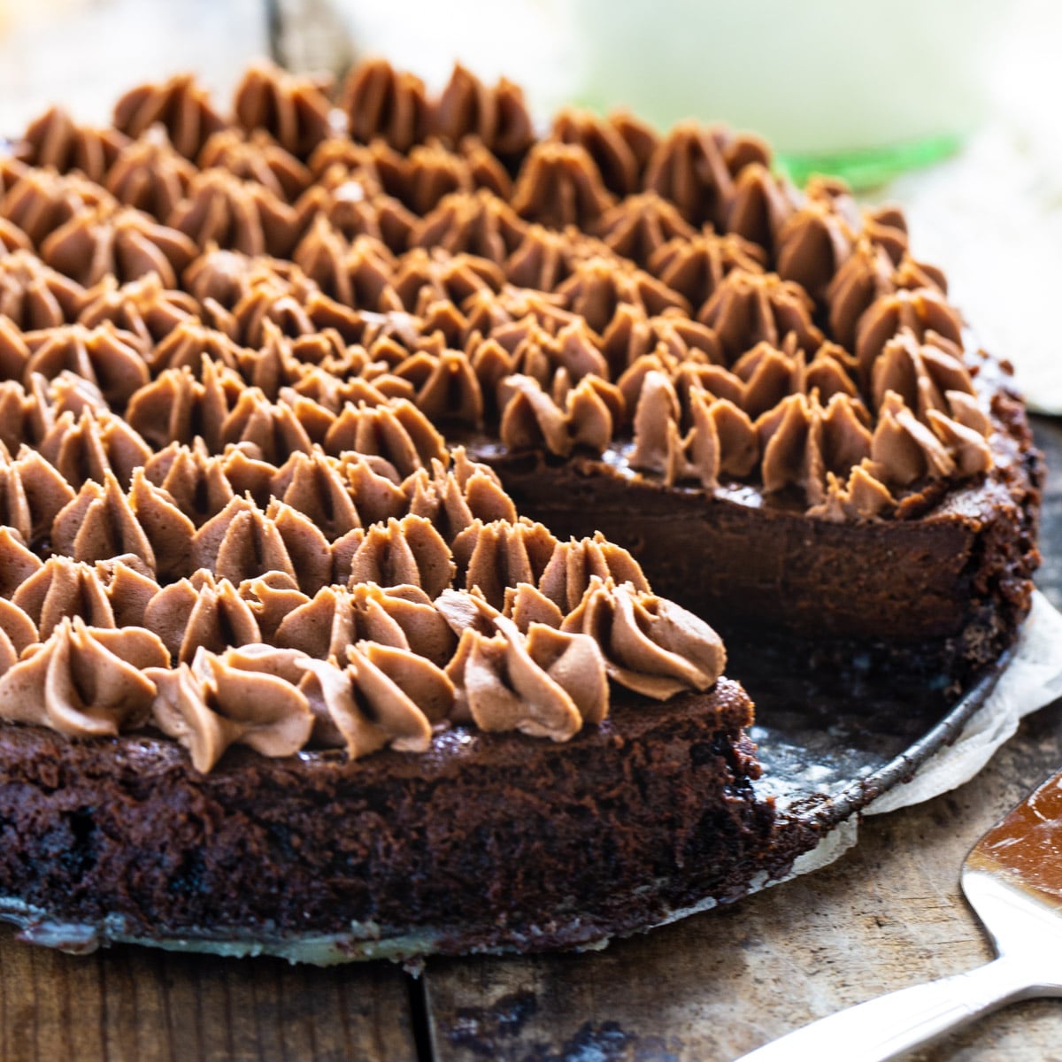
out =
[[[150,737],[0,731],[0,880],[50,920],[267,948],[350,930],[463,952],[582,945],[783,875],[720,680],[566,744],[456,729],[422,756],[243,750],[208,775]],[[470,902],[475,897],[475,903]]]

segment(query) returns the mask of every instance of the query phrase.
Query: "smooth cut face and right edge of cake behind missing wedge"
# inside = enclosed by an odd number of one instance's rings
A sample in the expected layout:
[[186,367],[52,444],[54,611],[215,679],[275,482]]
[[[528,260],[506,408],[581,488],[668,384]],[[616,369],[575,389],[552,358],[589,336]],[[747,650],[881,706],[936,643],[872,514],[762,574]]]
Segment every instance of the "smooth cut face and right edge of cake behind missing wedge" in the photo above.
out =
[[524,511],[560,534],[599,528],[727,637],[794,634],[822,658],[871,651],[958,689],[1013,644],[1040,562],[1043,459],[1024,405],[983,375],[992,468],[929,483],[887,520],[811,518],[799,492],[738,480],[668,484],[631,467],[632,444],[565,461],[469,445]]

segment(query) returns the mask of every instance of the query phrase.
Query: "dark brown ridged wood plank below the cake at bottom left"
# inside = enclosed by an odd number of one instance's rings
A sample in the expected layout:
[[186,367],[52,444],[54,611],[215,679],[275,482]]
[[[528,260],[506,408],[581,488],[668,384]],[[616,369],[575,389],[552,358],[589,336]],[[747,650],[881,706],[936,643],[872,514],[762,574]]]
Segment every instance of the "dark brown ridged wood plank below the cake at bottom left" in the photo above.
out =
[[85,958],[0,928],[4,1062],[416,1059],[397,966],[320,970],[117,947]]

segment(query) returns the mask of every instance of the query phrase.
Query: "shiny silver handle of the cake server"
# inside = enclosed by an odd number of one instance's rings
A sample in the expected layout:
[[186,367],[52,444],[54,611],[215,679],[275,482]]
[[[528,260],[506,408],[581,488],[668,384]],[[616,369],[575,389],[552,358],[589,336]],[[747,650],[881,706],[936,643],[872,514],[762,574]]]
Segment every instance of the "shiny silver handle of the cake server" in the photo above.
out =
[[886,1062],[1005,1004],[1058,991],[1029,981],[1027,963],[1001,956],[967,973],[838,1011],[737,1062]]

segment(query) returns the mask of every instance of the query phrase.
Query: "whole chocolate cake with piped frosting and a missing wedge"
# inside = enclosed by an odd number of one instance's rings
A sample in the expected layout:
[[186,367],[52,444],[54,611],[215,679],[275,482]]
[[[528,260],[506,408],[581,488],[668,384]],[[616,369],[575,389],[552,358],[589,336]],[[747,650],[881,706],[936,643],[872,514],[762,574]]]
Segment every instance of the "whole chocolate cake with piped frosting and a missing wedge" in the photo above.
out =
[[538,135],[460,67],[333,97],[261,66],[230,117],[188,76],[105,129],[53,108],[0,189],[27,939],[336,961],[645,928],[817,840],[757,792],[701,617],[957,695],[1028,611],[1006,364],[898,211],[793,189],[755,137]]

